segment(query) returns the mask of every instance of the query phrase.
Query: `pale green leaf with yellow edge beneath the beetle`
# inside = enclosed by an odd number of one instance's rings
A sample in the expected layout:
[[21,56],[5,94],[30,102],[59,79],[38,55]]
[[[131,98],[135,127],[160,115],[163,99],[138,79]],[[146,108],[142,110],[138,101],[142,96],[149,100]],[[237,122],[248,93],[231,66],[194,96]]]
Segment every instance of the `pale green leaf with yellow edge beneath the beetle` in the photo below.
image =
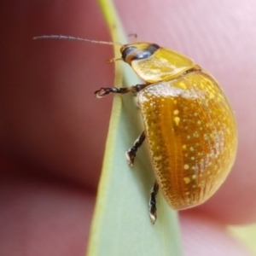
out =
[[[99,2],[113,41],[125,43],[125,32],[113,3]],[[140,83],[127,64],[118,61],[115,72],[115,86]],[[154,172],[147,143],[139,148],[132,168],[125,160],[125,151],[143,131],[135,100],[131,94],[113,97],[102,177],[90,230],[89,256],[182,255],[177,212],[172,211],[160,193],[156,224],[151,224],[148,217]]]

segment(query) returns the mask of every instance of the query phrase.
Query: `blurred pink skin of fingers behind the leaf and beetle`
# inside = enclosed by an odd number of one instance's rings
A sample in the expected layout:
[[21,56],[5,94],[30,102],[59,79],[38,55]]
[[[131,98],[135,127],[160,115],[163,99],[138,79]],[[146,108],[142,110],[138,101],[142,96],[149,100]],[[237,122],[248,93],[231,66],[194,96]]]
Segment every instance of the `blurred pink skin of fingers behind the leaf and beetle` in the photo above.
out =
[[[230,177],[207,203],[180,213],[185,252],[250,255],[225,227],[256,221],[256,3],[152,0],[147,15],[143,3],[116,3],[128,33],[189,55],[223,85],[236,113]],[[9,1],[0,12],[0,254],[84,255],[112,102],[93,92],[113,85],[105,63],[113,51],[32,37],[108,41],[108,28],[94,1]]]

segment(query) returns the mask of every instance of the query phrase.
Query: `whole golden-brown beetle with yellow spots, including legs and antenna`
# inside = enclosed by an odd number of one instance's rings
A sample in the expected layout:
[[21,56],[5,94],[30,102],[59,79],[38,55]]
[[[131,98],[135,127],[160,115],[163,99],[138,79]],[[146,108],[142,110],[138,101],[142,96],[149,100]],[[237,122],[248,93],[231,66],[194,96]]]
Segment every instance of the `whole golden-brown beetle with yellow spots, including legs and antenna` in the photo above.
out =
[[160,189],[174,210],[207,201],[224,183],[236,159],[237,130],[234,113],[212,75],[188,57],[158,44],[120,44],[69,36],[41,36],[119,45],[121,57],[145,81],[126,88],[101,88],[108,94],[137,95],[144,131],[126,152],[129,166],[137,149],[148,141],[155,183],[150,193],[149,216],[157,218]]

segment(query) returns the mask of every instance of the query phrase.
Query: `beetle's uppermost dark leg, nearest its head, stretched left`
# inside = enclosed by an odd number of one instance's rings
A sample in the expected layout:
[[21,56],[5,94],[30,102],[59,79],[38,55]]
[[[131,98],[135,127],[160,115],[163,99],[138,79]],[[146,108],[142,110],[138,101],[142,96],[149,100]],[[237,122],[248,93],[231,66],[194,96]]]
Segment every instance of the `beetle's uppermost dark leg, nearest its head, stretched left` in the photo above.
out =
[[109,88],[101,88],[100,90],[95,91],[95,96],[97,98],[102,98],[103,96],[106,96],[110,93],[120,93],[120,94],[125,94],[127,92],[134,92],[137,93],[140,90],[143,90],[148,84],[137,84],[131,87],[122,87],[122,88],[117,88],[117,87],[109,87]]

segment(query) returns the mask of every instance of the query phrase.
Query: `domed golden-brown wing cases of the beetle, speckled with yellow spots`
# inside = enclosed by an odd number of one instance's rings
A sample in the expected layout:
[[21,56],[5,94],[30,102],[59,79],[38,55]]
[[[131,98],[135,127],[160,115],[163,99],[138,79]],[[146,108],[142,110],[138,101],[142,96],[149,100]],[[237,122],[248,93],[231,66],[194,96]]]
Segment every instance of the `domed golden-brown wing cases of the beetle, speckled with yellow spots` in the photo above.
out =
[[195,71],[138,93],[155,176],[174,209],[206,201],[236,156],[236,122],[218,83]]

